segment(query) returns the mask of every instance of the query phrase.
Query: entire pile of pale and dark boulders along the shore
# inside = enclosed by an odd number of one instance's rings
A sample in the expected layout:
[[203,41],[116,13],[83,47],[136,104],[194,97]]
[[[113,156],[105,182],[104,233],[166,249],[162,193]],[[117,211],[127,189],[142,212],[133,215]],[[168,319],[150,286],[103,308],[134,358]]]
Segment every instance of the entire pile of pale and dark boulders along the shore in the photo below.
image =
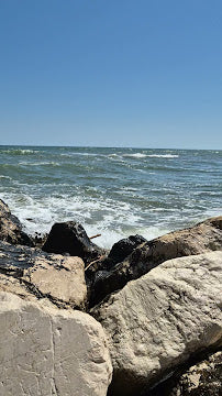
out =
[[0,394],[219,396],[222,217],[110,251],[0,200]]

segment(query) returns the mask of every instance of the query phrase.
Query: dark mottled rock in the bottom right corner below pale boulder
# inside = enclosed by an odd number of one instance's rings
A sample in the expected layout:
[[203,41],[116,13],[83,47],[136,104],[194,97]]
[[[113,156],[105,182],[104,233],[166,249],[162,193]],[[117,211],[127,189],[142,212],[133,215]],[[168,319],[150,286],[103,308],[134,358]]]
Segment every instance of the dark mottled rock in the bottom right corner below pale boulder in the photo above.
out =
[[189,369],[178,371],[144,396],[221,396],[222,352],[206,356]]

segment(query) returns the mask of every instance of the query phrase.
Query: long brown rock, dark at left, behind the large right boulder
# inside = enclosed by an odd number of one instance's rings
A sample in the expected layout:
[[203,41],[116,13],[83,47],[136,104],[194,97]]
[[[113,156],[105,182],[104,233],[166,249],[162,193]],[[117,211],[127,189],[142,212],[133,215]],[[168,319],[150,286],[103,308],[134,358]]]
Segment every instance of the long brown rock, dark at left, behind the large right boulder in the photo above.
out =
[[133,250],[122,263],[91,286],[90,306],[110,293],[121,289],[169,258],[200,254],[222,249],[222,217],[206,220],[193,228],[170,232],[145,242]]

